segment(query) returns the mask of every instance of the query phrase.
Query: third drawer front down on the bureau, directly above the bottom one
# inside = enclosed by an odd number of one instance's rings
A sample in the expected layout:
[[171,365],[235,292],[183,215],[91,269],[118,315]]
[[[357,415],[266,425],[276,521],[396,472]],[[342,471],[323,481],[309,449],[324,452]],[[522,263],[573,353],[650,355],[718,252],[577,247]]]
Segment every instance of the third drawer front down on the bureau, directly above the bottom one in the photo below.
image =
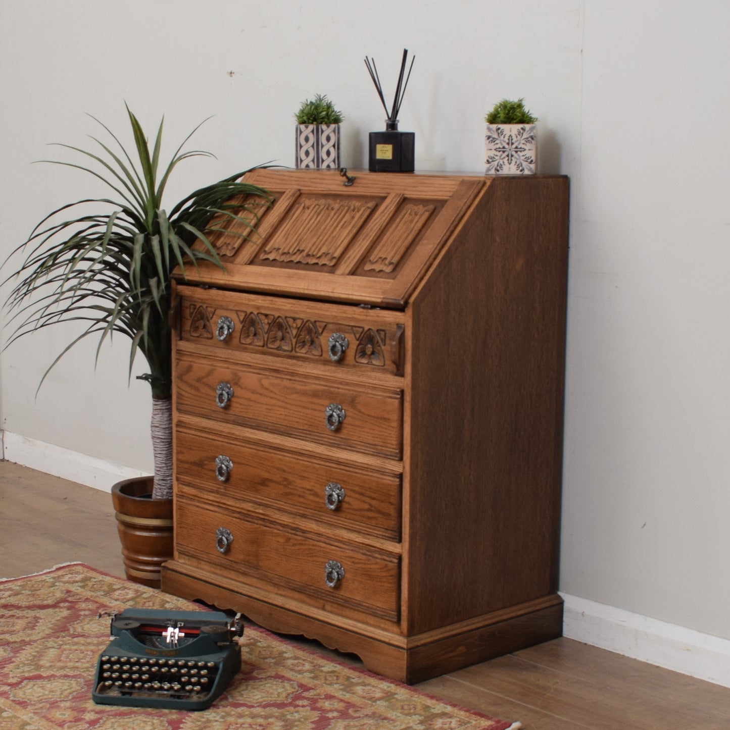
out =
[[[190,430],[188,430],[188,428]],[[400,539],[400,476],[178,425],[175,473],[210,497],[300,512],[329,526]]]

